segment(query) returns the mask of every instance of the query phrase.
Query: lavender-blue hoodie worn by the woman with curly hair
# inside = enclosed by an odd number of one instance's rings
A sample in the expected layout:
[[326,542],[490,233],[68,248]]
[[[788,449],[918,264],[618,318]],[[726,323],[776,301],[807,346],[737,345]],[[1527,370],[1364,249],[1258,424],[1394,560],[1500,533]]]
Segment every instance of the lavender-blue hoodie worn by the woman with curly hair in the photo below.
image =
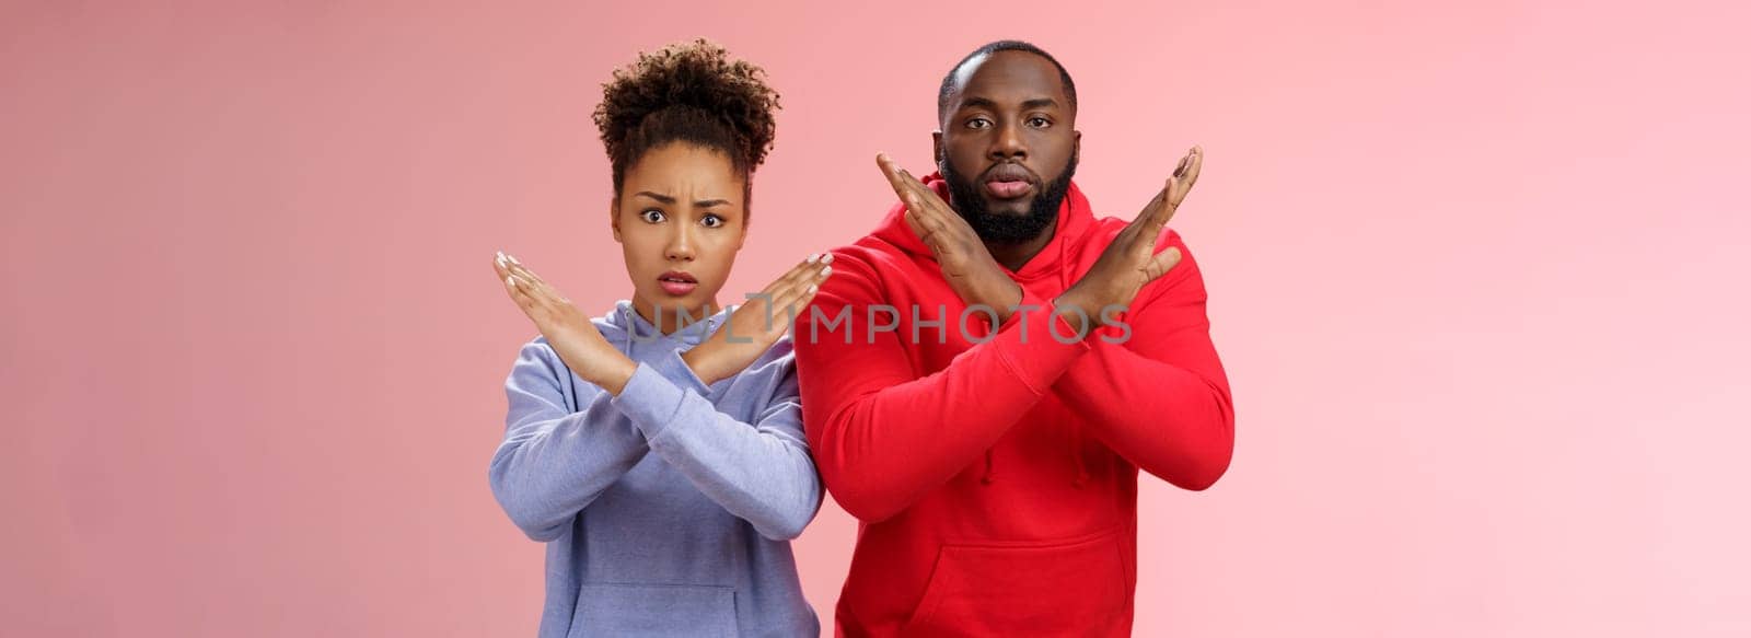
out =
[[546,543],[539,636],[819,634],[790,552],[821,507],[790,340],[711,386],[681,361],[727,317],[660,335],[620,301],[594,319],[637,363],[620,396],[546,338],[518,354],[489,477]]

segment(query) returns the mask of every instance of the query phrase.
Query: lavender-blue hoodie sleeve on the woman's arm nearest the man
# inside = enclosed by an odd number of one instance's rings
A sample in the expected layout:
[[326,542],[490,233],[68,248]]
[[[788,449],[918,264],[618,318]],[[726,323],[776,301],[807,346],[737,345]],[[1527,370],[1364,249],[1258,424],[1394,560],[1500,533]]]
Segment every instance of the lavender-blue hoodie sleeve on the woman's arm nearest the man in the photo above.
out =
[[613,403],[632,417],[651,452],[700,493],[762,536],[791,540],[821,507],[821,478],[802,435],[793,361],[784,354],[742,372],[772,384],[753,422],[718,412],[706,398],[709,387],[679,351],[655,365],[639,363]]

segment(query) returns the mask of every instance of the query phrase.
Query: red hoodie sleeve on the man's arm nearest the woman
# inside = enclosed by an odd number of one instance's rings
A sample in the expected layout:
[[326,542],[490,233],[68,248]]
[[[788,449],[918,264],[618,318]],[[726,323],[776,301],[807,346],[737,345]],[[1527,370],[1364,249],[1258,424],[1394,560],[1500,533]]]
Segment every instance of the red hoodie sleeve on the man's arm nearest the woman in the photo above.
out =
[[1051,303],[1024,293],[1023,305],[1037,310],[1010,314],[989,340],[926,375],[898,333],[872,331],[872,307],[890,303],[876,268],[856,258],[833,266],[797,321],[802,410],[826,489],[865,522],[898,514],[977,461],[1091,349],[1051,338]]

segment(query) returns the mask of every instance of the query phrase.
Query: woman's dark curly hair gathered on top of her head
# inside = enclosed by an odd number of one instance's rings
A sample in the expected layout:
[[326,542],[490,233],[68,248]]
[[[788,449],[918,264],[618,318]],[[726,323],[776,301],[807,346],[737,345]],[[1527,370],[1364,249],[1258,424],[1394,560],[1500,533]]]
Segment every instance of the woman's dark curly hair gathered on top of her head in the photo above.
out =
[[595,126],[615,175],[615,196],[646,152],[688,142],[723,152],[751,188],[777,130],[777,93],[765,70],[732,60],[721,46],[697,39],[671,44],[615,70],[602,84]]

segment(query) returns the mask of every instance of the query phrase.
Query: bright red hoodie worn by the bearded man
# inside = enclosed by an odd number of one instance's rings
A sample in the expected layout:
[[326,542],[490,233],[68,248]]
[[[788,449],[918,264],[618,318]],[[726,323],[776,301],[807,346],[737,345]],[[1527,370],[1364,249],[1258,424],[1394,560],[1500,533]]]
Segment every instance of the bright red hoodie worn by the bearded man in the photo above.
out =
[[[904,210],[833,251],[833,277],[797,321],[809,445],[861,521],[837,634],[1129,634],[1136,470],[1205,489],[1234,445],[1198,263],[1168,231],[1157,251],[1184,258],[1122,315],[1128,340],[1101,338],[1126,337],[1119,328],[1052,338],[1049,300],[1126,224],[1094,219],[1072,184],[1051,244],[1009,272],[1040,310],[995,335],[975,310],[963,333],[967,305]],[[895,307],[897,330],[874,331],[895,319],[872,305]]]

